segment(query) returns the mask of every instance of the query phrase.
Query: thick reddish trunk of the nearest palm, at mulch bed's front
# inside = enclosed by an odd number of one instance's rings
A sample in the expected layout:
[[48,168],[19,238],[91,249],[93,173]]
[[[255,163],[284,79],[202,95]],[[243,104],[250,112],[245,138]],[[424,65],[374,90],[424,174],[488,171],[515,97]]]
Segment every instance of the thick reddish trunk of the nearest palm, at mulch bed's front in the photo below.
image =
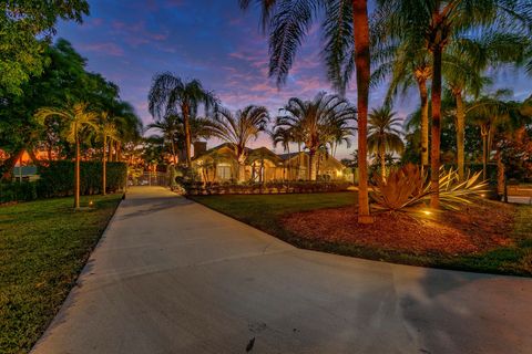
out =
[[352,0],[355,65],[358,94],[358,222],[371,223],[368,196],[368,100],[371,72],[369,55],[369,23],[367,0]]

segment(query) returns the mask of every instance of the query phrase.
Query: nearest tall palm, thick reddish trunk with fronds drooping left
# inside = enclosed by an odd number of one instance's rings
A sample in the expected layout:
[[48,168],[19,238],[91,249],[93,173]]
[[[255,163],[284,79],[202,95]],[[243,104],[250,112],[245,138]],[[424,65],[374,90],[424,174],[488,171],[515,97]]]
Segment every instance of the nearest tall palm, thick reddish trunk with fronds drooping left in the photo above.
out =
[[[252,0],[239,0],[247,9]],[[311,23],[324,14],[325,60],[327,74],[344,94],[351,74],[357,72],[359,191],[358,221],[372,222],[369,215],[367,119],[370,79],[369,21],[367,0],[287,1],[257,0],[262,7],[263,28],[269,28],[269,74],[277,83],[286,82],[297,49]]]

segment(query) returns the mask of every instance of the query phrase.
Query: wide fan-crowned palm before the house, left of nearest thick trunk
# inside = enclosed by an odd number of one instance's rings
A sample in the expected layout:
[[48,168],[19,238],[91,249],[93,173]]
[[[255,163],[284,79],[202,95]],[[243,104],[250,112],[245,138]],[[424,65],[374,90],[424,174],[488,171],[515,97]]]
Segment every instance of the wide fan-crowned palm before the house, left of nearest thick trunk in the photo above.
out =
[[308,179],[316,180],[316,153],[334,142],[339,129],[341,135],[352,134],[349,122],[355,121],[356,110],[345,98],[320,92],[313,101],[291,97],[283,111],[285,115],[277,117],[276,127],[300,136],[308,149]]

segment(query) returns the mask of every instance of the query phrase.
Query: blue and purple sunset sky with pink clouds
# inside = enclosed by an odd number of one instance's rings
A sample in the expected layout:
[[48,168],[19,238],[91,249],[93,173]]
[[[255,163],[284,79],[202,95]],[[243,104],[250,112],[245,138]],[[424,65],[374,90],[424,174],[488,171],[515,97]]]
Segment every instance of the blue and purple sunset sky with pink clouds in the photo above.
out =
[[[69,40],[89,60],[90,70],[119,84],[122,98],[135,106],[144,123],[152,122],[146,98],[152,77],[164,71],[200,79],[232,110],[258,104],[272,115],[291,96],[331,92],[320,56],[319,25],[311,29],[287,85],[278,91],[267,76],[268,46],[258,11],[243,12],[237,0],[93,0],[90,6],[84,23],[61,23],[58,38]],[[498,77],[492,90],[510,87],[519,100],[532,91],[522,72],[505,71]],[[348,93],[352,102],[355,88]],[[385,91],[382,86],[371,92],[372,107],[382,103]],[[395,111],[406,116],[417,104],[412,91],[398,100]],[[265,136],[254,143],[258,145],[272,147]],[[341,149],[340,155],[347,153]]]

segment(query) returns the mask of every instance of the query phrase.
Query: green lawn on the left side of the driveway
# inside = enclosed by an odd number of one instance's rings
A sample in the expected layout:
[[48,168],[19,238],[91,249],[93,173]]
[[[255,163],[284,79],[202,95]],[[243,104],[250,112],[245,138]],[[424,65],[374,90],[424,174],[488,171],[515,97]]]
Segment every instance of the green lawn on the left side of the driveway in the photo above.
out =
[[60,309],[121,195],[0,207],[0,353],[25,353]]

